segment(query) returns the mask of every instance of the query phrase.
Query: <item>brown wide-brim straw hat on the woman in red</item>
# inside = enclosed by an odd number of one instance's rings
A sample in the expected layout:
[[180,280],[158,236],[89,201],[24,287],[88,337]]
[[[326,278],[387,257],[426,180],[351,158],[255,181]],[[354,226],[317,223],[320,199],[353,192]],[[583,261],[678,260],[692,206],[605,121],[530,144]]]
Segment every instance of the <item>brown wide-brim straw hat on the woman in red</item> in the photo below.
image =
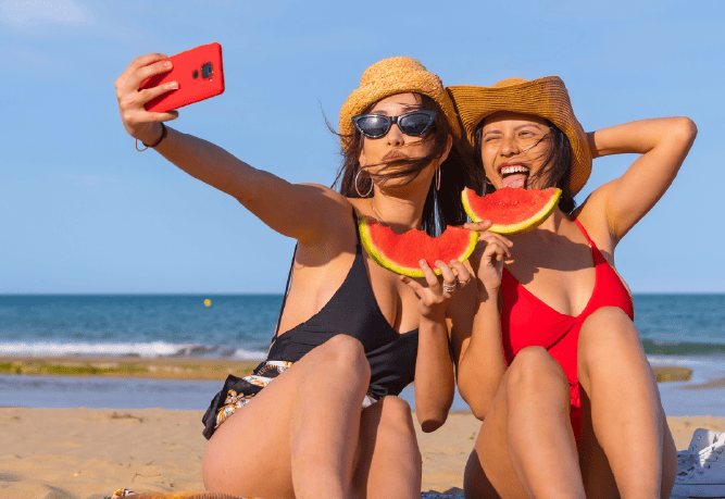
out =
[[564,82],[558,76],[509,78],[491,87],[448,87],[471,145],[478,124],[498,111],[534,114],[557,125],[572,146],[570,189],[576,195],[591,174],[591,150],[584,128],[574,116]]

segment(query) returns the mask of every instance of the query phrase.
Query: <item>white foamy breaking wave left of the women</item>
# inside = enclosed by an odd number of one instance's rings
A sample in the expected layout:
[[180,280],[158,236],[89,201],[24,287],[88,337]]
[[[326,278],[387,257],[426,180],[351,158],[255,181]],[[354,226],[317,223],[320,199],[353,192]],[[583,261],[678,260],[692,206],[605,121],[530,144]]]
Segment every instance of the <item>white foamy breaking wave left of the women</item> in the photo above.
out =
[[0,342],[0,357],[158,357],[223,358],[264,360],[264,351],[237,349],[228,346],[203,346],[148,342],[67,342],[67,341],[9,341]]

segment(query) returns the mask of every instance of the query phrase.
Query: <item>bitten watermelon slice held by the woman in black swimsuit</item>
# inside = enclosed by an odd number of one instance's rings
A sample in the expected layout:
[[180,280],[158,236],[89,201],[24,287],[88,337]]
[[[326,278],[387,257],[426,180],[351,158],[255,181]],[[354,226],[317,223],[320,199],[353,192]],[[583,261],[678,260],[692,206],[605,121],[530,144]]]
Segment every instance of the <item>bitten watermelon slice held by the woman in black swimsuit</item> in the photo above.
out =
[[436,261],[449,263],[455,259],[464,262],[478,242],[478,233],[461,227],[447,227],[438,237],[415,229],[396,234],[376,220],[362,217],[359,229],[362,244],[375,263],[410,277],[423,277],[418,263],[422,259],[440,274]]

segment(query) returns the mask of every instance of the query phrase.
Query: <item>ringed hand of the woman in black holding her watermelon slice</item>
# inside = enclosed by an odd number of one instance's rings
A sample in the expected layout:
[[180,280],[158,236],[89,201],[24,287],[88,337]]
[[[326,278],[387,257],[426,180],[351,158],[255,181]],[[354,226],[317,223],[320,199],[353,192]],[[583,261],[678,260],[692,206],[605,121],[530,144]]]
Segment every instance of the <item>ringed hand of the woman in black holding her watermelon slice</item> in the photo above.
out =
[[442,279],[434,273],[424,259],[420,261],[420,265],[426,286],[407,275],[401,275],[400,280],[421,299],[418,302],[421,316],[433,321],[445,321],[448,303],[459,287],[468,284],[472,278],[471,273],[458,260],[452,260],[450,266],[440,260],[436,262],[436,270],[440,272]]

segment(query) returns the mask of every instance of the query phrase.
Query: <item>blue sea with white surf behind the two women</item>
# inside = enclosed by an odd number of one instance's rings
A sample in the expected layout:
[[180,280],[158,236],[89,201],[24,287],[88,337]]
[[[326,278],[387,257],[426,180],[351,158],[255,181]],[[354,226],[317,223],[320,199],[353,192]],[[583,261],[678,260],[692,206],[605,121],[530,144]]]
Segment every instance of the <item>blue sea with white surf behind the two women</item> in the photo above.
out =
[[[282,298],[0,295],[0,355],[263,359]],[[635,295],[634,301],[648,355],[725,360],[725,295]]]

